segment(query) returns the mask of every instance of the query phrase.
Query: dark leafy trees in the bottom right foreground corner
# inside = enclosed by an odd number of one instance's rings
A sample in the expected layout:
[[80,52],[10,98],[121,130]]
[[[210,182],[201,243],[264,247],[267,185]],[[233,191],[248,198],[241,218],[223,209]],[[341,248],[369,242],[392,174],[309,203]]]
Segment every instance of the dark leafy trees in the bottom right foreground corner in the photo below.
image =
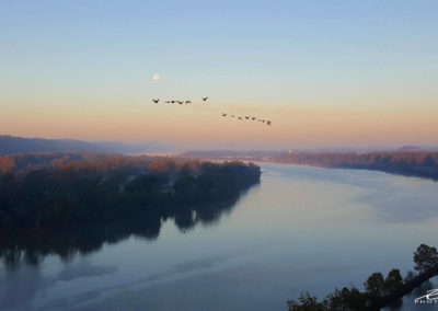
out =
[[[287,301],[289,311],[377,311],[388,306],[403,303],[401,298],[438,275],[438,251],[420,244],[414,252],[414,272],[403,279],[399,269],[392,269],[383,277],[381,273],[371,274],[364,283],[365,291],[357,288],[335,289],[333,293],[319,301],[309,292],[301,292],[298,301]],[[423,296],[425,292],[422,292]]]

